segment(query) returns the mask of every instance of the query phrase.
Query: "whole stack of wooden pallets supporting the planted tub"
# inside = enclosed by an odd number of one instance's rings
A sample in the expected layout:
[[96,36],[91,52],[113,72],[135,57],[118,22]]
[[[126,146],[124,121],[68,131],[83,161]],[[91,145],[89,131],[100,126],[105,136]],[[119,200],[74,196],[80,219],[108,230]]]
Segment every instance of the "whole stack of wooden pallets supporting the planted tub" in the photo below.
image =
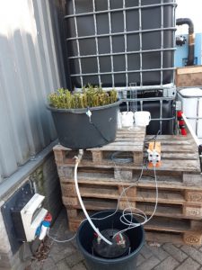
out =
[[[78,182],[84,205],[90,213],[116,209],[118,202],[119,209],[125,209],[129,202],[145,211],[148,217],[152,214],[156,197],[154,171],[143,166],[145,146],[151,139],[152,136],[145,137],[143,128],[119,130],[115,142],[84,151],[78,167]],[[154,218],[145,224],[146,238],[201,245],[202,178],[198,148],[190,135],[161,135],[157,140],[162,143],[162,166],[156,168],[158,207]],[[69,228],[76,230],[84,218],[74,184],[77,153],[60,145],[54,152]],[[125,157],[126,163],[123,162]],[[142,168],[143,176],[138,179]],[[123,189],[131,184],[127,194],[119,199]]]

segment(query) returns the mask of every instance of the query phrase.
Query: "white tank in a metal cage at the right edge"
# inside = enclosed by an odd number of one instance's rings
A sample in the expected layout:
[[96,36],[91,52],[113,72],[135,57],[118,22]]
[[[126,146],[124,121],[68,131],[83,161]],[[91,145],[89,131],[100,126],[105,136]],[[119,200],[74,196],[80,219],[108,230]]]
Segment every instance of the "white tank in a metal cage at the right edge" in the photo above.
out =
[[182,111],[198,138],[202,138],[202,89],[198,87],[183,88],[180,90],[180,95]]

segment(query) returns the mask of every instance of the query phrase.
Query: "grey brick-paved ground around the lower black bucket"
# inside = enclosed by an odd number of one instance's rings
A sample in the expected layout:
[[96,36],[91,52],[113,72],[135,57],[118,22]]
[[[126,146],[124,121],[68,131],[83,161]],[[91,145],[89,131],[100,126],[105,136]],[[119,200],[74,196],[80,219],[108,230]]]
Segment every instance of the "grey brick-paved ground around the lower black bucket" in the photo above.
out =
[[[74,235],[74,233],[67,229],[65,210],[61,211],[49,234],[56,235],[58,239],[71,238]],[[75,240],[66,243],[48,240],[48,247],[49,252],[46,259],[28,261],[24,270],[87,269],[83,256],[76,247]],[[137,258],[136,269],[202,270],[202,247],[145,243]]]

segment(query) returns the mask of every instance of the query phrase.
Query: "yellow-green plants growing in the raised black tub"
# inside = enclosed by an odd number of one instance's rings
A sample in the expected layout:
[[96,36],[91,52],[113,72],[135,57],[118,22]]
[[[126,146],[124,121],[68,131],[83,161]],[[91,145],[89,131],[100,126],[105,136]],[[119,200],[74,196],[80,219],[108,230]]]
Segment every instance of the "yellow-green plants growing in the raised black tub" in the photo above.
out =
[[118,100],[117,91],[103,91],[101,87],[83,87],[82,93],[71,93],[68,89],[59,88],[48,95],[50,106],[58,109],[81,109],[103,106]]

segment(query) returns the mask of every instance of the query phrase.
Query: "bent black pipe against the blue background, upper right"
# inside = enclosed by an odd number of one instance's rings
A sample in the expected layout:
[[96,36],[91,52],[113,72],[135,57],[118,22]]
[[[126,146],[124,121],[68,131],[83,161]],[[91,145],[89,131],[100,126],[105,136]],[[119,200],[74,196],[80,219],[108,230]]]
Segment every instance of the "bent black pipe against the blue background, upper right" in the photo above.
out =
[[187,66],[194,66],[194,47],[195,47],[195,36],[194,36],[194,24],[189,18],[180,18],[176,20],[177,25],[188,24],[189,25],[189,52]]

